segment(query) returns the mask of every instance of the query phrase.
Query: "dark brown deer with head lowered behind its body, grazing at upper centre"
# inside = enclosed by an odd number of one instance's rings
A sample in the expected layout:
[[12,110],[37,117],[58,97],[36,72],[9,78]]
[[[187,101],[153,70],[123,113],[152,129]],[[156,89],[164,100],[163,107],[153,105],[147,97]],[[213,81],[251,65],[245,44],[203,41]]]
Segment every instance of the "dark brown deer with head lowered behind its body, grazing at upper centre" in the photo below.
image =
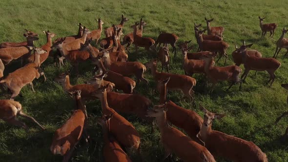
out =
[[157,47],[157,44],[158,45],[158,48],[161,46],[161,43],[163,44],[171,44],[171,46],[173,47],[173,51],[172,53],[174,52],[174,58],[176,57],[176,41],[178,41],[178,36],[176,36],[175,34],[173,33],[161,33],[157,40],[155,41],[155,44],[154,44],[154,48],[156,49]]

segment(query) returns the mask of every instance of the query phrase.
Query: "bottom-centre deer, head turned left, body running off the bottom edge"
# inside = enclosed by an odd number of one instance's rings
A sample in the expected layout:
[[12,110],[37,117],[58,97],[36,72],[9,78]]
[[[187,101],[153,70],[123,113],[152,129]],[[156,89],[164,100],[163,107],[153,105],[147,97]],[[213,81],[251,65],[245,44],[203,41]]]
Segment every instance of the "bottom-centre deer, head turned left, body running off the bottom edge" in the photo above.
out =
[[[173,152],[184,162],[216,162],[206,147],[191,140],[180,130],[167,122],[165,104],[155,105],[147,111],[148,117],[156,118],[161,133],[161,142],[165,149],[164,160]],[[163,160],[163,161],[164,161]]]

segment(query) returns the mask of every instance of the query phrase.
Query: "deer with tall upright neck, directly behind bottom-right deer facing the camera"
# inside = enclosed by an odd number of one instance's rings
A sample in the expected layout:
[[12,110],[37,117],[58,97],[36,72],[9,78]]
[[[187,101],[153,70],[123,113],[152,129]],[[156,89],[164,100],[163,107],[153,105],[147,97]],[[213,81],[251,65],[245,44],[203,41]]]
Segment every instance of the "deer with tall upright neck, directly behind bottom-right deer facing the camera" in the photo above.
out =
[[177,127],[184,129],[187,135],[195,142],[204,145],[204,143],[199,140],[197,134],[201,129],[203,119],[193,110],[188,110],[183,107],[176,105],[172,101],[167,101],[166,86],[170,78],[163,81],[158,81],[159,93],[160,93],[160,104],[166,104],[167,108],[167,120]]

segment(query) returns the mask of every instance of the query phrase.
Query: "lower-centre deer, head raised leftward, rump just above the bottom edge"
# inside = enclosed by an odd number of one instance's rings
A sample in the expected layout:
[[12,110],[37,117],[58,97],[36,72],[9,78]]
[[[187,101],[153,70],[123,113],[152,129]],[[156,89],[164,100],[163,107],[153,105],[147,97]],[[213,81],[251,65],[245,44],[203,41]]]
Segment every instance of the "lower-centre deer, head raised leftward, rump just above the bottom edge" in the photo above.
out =
[[115,135],[116,140],[125,148],[137,149],[140,155],[140,135],[129,121],[108,106],[107,87],[108,85],[100,87],[92,95],[100,99],[104,115],[113,114],[113,118],[110,120],[110,131]]

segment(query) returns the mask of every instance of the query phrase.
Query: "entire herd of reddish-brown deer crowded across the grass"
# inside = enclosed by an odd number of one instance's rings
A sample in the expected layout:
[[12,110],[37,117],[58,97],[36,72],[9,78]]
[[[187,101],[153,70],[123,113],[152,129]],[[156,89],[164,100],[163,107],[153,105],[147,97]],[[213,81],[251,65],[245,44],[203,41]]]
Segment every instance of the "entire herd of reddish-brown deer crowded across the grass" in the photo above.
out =
[[[270,32],[273,37],[277,24],[263,24],[260,20],[262,37],[266,32]],[[56,130],[50,150],[53,154],[62,155],[63,162],[68,162],[75,146],[81,138],[89,140],[87,125],[87,112],[85,101],[99,99],[102,105],[103,117],[97,119],[97,122],[103,128],[103,156],[106,162],[131,162],[130,158],[123,149],[132,148],[137,150],[141,157],[141,138],[135,127],[118,113],[134,114],[139,118],[151,124],[153,132],[153,120],[156,118],[159,130],[161,132],[161,142],[165,148],[165,157],[175,153],[185,162],[215,162],[214,157],[223,157],[234,162],[267,162],[266,154],[253,142],[227,135],[225,133],[211,129],[214,119],[221,119],[225,115],[209,112],[203,106],[200,106],[204,112],[202,119],[195,111],[188,110],[176,105],[172,101],[167,101],[168,90],[181,90],[185,97],[193,100],[193,87],[196,85],[196,79],[193,74],[204,74],[208,81],[212,82],[211,92],[219,81],[231,81],[228,89],[235,83],[245,81],[250,70],[267,71],[272,85],[276,76],[274,72],[280,67],[281,63],[276,60],[282,48],[288,50],[288,39],[284,38],[288,30],[283,29],[280,39],[277,41],[275,58],[262,58],[262,54],[256,50],[247,50],[252,44],[243,45],[238,48],[235,45],[235,51],[232,53],[235,65],[219,67],[215,66],[214,58],[219,53],[219,59],[225,56],[229,44],[223,41],[224,27],[211,27],[213,19],[206,19],[207,29],[201,30],[201,24],[194,24],[194,31],[199,48],[196,53],[189,53],[191,47],[188,47],[190,41],[185,41],[177,46],[183,54],[183,67],[185,75],[169,73],[169,49],[167,44],[173,47],[174,57],[176,57],[176,42],[178,37],[175,34],[162,33],[156,41],[152,38],[143,37],[143,27],[146,25],[142,19],[139,23],[131,26],[133,33],[123,36],[123,27],[127,18],[123,15],[119,25],[112,25],[104,30],[105,38],[100,42],[103,31],[103,21],[98,19],[99,28],[89,31],[85,26],[79,23],[79,31],[75,36],[58,38],[52,43],[52,38],[56,35],[49,31],[43,31],[47,37],[47,43],[41,48],[35,47],[33,41],[38,40],[38,34],[26,30],[24,37],[26,41],[20,43],[4,42],[0,44],[0,88],[2,93],[9,90],[12,93],[10,100],[0,100],[0,119],[14,125],[19,125],[28,131],[24,122],[18,121],[17,116],[28,118],[39,124],[34,118],[26,115],[22,111],[21,104],[14,101],[20,94],[21,88],[40,76],[46,80],[44,72],[41,70],[41,64],[48,58],[58,58],[59,66],[63,60],[70,62],[72,70],[78,75],[79,63],[90,60],[94,72],[98,72],[90,81],[84,84],[71,85],[69,73],[62,73],[55,78],[55,81],[62,83],[64,91],[68,92],[76,101],[76,110],[71,117]],[[205,35],[207,30],[208,35]],[[121,37],[123,42],[121,43]],[[91,41],[100,44],[101,50],[93,47]],[[127,44],[126,47],[123,45]],[[128,61],[129,46],[135,45],[136,53],[138,47],[144,47],[150,52],[158,51],[158,59],[154,59],[146,64],[141,62]],[[162,46],[162,44],[164,44]],[[52,52],[51,49],[57,49]],[[159,50],[158,50],[159,49]],[[31,54],[33,51],[33,54]],[[288,52],[287,52],[288,53]],[[287,55],[286,53],[286,55]],[[21,59],[22,67],[16,71],[3,76],[4,68],[13,60]],[[157,71],[157,60],[162,63],[162,71]],[[244,64],[245,71],[240,78],[242,69],[240,64]],[[164,67],[167,73],[163,72]],[[143,81],[146,68],[151,69],[151,73],[156,84],[156,89],[160,92],[160,101],[154,105],[152,101],[143,95],[136,94],[135,86]],[[136,82],[129,78],[135,76]],[[288,89],[288,84],[283,84]],[[112,92],[113,89],[122,90],[123,93]],[[228,90],[227,89],[227,90]],[[283,116],[288,115],[284,113]],[[187,136],[180,130],[168,124],[175,125],[185,131]],[[288,136],[288,129],[286,131]],[[141,158],[143,159],[143,158]]]

